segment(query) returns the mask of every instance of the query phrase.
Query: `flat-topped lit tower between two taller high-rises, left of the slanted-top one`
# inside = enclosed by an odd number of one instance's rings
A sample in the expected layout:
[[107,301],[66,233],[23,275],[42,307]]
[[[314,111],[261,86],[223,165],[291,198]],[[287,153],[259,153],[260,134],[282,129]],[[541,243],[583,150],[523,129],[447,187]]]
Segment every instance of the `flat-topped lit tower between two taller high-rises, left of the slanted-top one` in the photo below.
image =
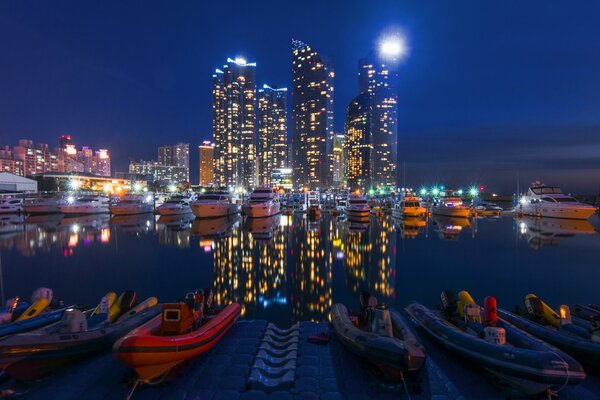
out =
[[287,168],[287,88],[258,90],[258,182],[271,184],[275,169]]

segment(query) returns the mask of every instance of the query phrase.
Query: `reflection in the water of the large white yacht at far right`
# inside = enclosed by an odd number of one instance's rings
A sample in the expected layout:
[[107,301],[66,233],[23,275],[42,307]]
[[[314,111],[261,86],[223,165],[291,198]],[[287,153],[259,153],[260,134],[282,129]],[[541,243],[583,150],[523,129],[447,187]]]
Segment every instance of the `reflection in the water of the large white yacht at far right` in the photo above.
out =
[[558,246],[562,238],[591,235],[596,228],[589,221],[557,218],[515,218],[519,233],[529,246],[539,249]]

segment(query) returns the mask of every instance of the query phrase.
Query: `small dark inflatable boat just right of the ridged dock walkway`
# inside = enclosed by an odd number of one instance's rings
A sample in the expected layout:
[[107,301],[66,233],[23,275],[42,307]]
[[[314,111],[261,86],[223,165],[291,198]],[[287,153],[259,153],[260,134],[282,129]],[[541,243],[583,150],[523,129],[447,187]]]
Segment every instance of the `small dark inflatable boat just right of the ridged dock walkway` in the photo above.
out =
[[425,362],[423,346],[407,321],[395,310],[378,306],[377,300],[368,293],[361,295],[358,316],[353,316],[344,304],[338,303],[331,308],[330,320],[333,331],[346,349],[391,377],[415,372]]

